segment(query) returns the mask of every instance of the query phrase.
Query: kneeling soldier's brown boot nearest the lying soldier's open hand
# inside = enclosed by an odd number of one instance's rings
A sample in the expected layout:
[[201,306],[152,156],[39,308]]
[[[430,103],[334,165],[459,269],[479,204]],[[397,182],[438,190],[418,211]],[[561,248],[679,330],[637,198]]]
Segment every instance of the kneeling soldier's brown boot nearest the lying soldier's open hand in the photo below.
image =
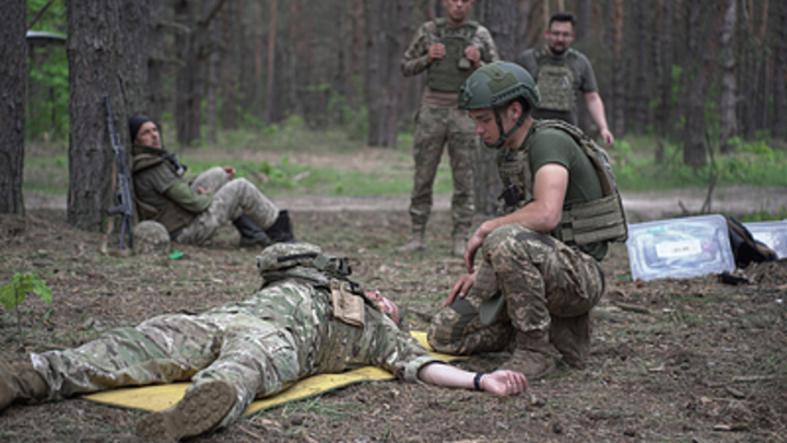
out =
[[516,331],[512,357],[500,369],[521,372],[529,381],[543,378],[555,372],[555,354],[549,333]]

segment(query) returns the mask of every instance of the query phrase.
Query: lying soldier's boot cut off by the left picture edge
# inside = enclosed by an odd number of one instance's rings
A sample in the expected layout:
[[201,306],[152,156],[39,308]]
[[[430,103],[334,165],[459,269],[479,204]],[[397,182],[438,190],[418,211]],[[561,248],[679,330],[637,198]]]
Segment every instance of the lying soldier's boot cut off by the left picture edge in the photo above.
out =
[[40,401],[47,398],[49,385],[33,368],[30,355],[25,359],[0,359],[0,410],[14,403]]

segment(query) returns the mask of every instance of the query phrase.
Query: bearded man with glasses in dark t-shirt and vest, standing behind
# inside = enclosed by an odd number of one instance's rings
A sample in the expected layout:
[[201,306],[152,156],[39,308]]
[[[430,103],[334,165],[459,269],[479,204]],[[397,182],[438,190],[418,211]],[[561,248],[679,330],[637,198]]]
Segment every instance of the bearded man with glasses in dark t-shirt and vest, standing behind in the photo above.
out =
[[604,148],[609,148],[614,137],[607,126],[592,67],[584,54],[571,48],[575,24],[572,13],[552,15],[544,33],[547,45],[524,51],[516,61],[528,70],[541,91],[541,105],[533,112],[533,118],[556,118],[576,126],[576,94],[582,92]]

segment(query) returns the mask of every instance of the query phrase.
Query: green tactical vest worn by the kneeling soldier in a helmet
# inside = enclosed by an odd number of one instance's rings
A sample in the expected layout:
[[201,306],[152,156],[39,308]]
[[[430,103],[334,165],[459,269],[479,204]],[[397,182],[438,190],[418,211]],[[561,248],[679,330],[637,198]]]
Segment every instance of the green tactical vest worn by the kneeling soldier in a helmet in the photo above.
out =
[[[565,131],[576,141],[594,165],[603,190],[603,197],[598,200],[564,205],[563,218],[551,235],[567,245],[586,245],[603,241],[625,242],[629,238],[625,212],[607,152],[583,131],[563,120],[536,120],[533,135],[544,128]],[[532,135],[529,139],[530,141],[525,143],[522,149],[513,152],[505,149],[497,155],[497,171],[503,188],[513,187],[522,197],[516,205],[510,206],[503,200],[501,194],[497,215],[512,213],[533,199],[533,177],[528,155],[533,140]]]

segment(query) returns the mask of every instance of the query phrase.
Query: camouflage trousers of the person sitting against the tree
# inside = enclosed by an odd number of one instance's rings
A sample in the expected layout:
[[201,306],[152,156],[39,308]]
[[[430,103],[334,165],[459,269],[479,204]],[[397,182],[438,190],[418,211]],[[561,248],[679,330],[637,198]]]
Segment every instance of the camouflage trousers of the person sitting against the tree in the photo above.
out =
[[245,178],[231,180],[221,167],[212,167],[191,183],[191,190],[199,187],[214,193],[208,209],[200,213],[175,238],[178,243],[201,245],[215,234],[219,228],[244,213],[263,231],[273,225],[279,208]]

